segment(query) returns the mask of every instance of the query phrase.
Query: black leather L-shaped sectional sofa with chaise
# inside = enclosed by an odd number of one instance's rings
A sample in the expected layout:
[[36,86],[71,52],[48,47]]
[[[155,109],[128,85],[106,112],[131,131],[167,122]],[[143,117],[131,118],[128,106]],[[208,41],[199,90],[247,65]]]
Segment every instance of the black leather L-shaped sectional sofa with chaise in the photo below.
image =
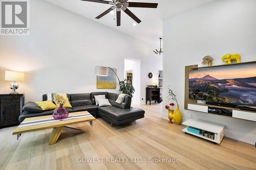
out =
[[[105,95],[112,106],[96,106],[95,95]],[[119,94],[109,92],[68,94],[72,108],[68,108],[67,110],[69,112],[88,111],[94,117],[101,117],[107,122],[110,122],[111,126],[133,122],[134,120],[144,117],[144,110],[131,107],[132,98],[130,95],[126,95],[121,104],[115,102],[118,95]],[[42,101],[47,101],[46,94],[42,95]],[[28,102],[23,107],[23,113],[19,116],[19,122],[22,122],[27,117],[51,115],[52,112],[53,110],[43,111],[34,102]]]

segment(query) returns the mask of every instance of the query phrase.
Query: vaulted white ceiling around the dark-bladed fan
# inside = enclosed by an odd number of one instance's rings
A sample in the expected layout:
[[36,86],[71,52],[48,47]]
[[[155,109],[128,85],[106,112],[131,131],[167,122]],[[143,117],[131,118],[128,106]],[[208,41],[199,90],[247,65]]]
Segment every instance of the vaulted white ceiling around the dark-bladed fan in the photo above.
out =
[[[187,10],[216,0],[129,0],[129,2],[158,3],[158,8],[129,8],[142,21],[139,24],[121,11],[120,27],[116,26],[116,20],[114,20],[114,17],[116,16],[115,13],[109,13],[100,19],[95,19],[96,16],[110,8],[111,5],[84,2],[80,0],[46,1],[125,34],[159,45],[159,37],[162,37],[163,19],[173,17]],[[134,23],[136,23],[136,26],[134,26]]]

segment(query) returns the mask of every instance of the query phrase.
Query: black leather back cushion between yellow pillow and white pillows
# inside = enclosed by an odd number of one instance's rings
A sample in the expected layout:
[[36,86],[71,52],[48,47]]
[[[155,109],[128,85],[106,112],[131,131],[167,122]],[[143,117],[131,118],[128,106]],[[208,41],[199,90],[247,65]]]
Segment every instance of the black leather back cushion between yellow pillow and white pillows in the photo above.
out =
[[90,93],[70,94],[70,102],[72,107],[92,105],[91,94]]

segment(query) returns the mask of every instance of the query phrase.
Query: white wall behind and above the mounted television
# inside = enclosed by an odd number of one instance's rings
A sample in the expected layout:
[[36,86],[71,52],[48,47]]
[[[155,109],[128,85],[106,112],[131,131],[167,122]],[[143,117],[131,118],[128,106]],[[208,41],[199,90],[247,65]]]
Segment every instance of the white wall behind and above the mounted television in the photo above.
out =
[[255,16],[256,1],[223,0],[163,21],[164,104],[170,83],[184,119],[191,116],[226,125],[227,137],[251,144],[256,140],[255,122],[184,110],[184,76],[186,65],[201,65],[206,55],[215,58],[215,65],[224,64],[221,57],[227,53],[241,54],[243,62],[256,60]]

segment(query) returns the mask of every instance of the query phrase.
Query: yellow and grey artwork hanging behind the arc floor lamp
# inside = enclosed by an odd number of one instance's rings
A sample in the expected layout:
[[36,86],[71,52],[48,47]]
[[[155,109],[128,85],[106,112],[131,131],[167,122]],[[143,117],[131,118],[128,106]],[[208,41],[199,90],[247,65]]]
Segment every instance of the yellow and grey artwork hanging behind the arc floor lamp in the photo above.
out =
[[[112,68],[117,71],[116,68]],[[116,89],[116,75],[109,69],[108,76],[97,76],[97,88],[98,89]]]

